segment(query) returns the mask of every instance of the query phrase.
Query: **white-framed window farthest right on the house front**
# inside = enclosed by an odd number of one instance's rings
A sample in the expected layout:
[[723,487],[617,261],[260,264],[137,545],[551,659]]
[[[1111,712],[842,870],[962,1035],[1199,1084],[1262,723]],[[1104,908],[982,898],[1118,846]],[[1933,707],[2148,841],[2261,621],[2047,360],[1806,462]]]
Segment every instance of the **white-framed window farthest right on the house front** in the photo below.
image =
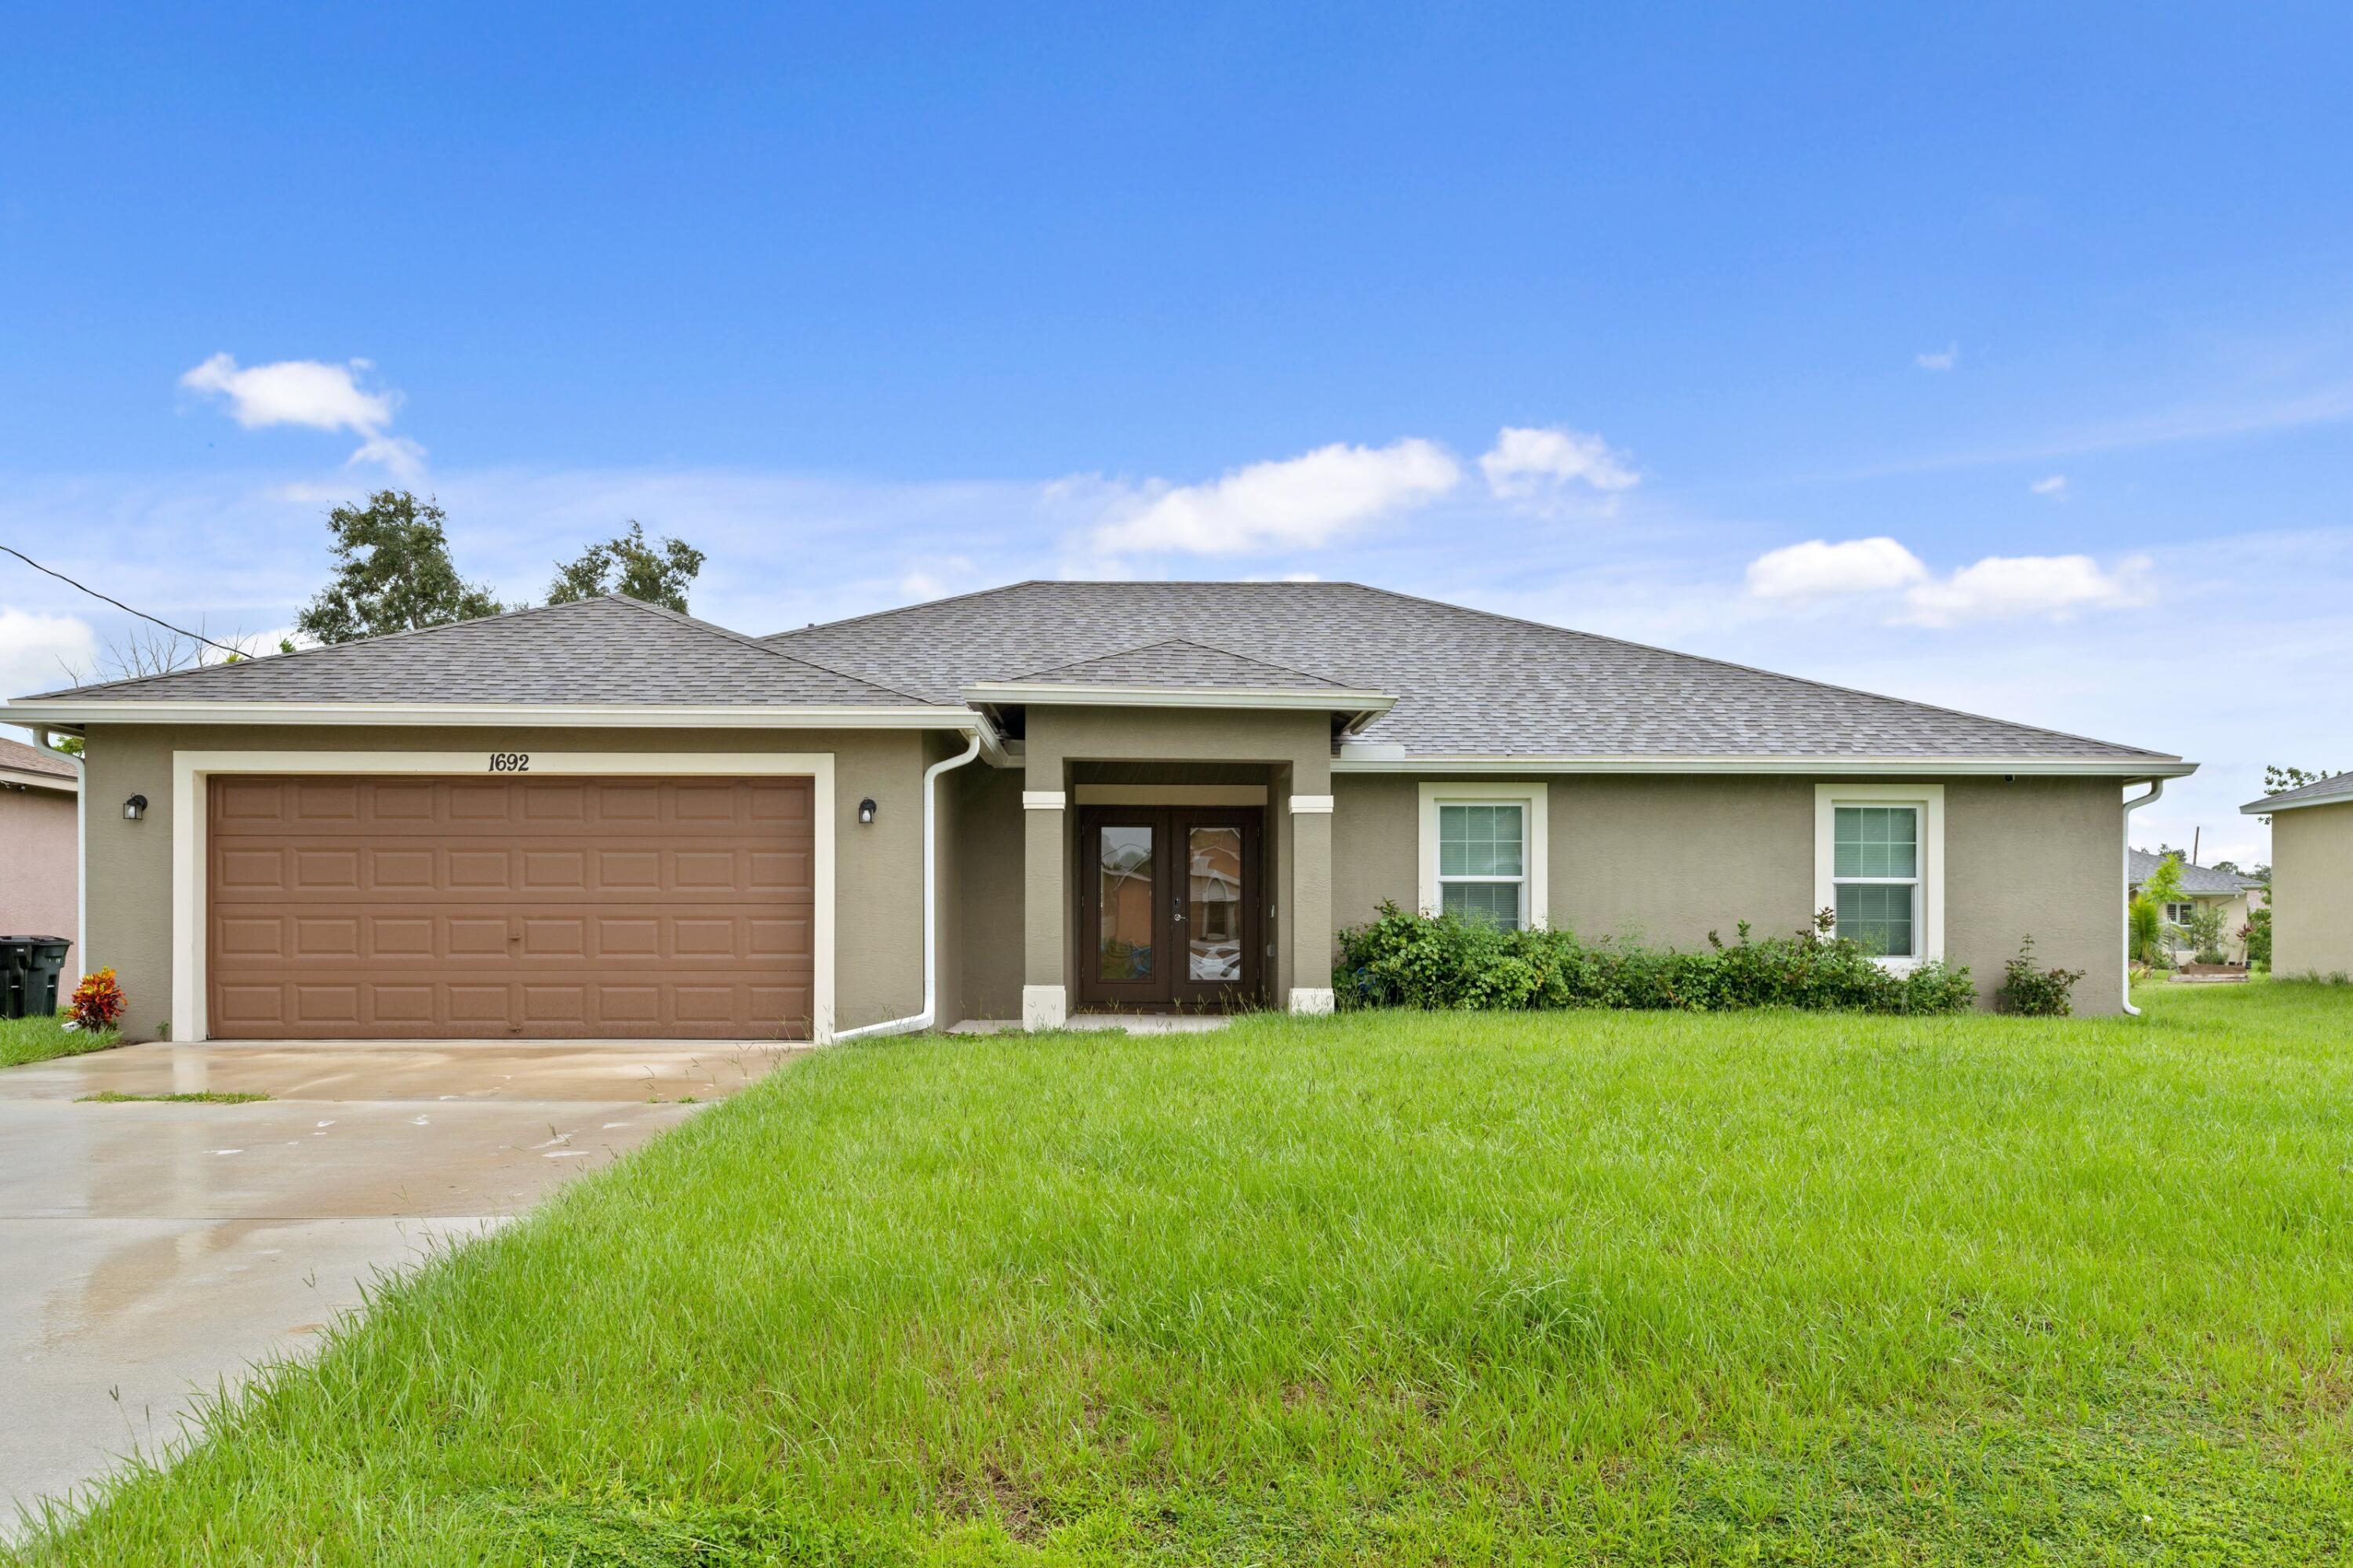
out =
[[1814,909],[1889,968],[1944,958],[1944,786],[1817,784]]

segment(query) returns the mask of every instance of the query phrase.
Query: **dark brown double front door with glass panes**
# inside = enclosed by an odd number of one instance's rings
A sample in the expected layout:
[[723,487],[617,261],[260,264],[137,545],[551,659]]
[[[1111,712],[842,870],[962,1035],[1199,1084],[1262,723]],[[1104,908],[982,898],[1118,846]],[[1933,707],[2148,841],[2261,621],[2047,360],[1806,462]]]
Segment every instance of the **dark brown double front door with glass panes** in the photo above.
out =
[[1078,817],[1078,998],[1217,1010],[1266,996],[1261,812],[1089,805]]

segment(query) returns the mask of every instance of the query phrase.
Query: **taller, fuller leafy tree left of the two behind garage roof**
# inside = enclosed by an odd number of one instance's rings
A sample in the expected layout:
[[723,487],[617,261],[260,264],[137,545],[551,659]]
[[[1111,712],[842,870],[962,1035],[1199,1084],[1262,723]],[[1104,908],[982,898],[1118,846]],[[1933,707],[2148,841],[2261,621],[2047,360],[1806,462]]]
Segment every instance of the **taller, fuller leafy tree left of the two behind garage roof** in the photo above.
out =
[[379,490],[367,506],[329,511],[334,582],[294,626],[320,643],[351,643],[506,610],[489,589],[456,574],[445,518],[407,490]]

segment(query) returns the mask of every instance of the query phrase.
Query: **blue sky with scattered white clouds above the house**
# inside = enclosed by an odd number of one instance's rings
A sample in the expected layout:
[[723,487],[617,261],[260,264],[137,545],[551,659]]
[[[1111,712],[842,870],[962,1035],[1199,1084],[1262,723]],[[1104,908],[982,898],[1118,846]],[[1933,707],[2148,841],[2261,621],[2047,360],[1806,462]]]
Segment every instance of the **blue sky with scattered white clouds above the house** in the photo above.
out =
[[[746,631],[1435,593],[2184,751],[2242,857],[2353,765],[2346,7],[45,9],[0,539],[214,633],[405,480]],[[0,563],[0,685],[120,633]]]

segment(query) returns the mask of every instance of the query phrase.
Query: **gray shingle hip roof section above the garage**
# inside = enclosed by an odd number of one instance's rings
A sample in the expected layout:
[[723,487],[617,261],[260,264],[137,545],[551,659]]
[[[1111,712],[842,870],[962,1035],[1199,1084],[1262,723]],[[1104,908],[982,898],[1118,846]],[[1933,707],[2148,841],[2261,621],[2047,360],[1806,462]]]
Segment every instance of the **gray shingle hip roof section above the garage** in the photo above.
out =
[[[882,706],[918,697],[619,593],[28,702],[551,702]],[[951,697],[948,702],[955,702]]]

